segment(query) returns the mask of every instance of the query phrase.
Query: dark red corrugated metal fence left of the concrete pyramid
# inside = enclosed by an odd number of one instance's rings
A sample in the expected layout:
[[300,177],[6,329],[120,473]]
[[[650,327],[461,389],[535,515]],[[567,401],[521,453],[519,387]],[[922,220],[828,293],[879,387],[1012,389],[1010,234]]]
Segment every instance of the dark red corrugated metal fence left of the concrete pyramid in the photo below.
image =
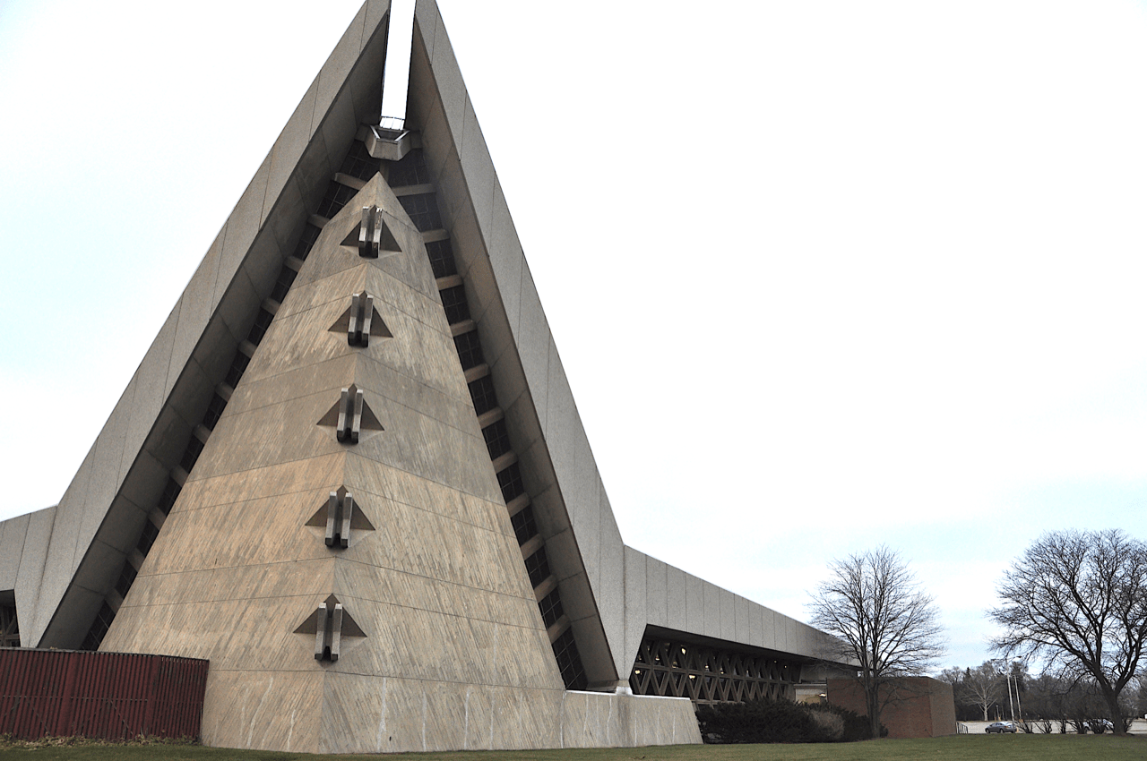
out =
[[208,661],[0,649],[0,735],[198,737]]

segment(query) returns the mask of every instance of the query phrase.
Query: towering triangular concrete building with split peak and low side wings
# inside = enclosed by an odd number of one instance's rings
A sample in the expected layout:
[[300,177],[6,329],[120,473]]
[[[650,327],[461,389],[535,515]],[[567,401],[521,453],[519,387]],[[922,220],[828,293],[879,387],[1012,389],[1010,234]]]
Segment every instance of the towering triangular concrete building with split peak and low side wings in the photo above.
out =
[[824,634],[622,542],[434,0],[379,126],[389,10],[0,524],[5,642],[209,659],[204,742],[284,751],[696,743],[822,683]]

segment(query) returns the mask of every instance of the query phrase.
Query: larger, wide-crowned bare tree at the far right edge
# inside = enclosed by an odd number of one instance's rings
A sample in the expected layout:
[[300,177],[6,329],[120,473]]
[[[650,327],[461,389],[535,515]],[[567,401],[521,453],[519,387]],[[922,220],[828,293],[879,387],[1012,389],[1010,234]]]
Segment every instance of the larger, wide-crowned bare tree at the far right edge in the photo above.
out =
[[992,648],[1094,680],[1116,732],[1147,642],[1147,546],[1121,531],[1045,534],[1004,576]]

